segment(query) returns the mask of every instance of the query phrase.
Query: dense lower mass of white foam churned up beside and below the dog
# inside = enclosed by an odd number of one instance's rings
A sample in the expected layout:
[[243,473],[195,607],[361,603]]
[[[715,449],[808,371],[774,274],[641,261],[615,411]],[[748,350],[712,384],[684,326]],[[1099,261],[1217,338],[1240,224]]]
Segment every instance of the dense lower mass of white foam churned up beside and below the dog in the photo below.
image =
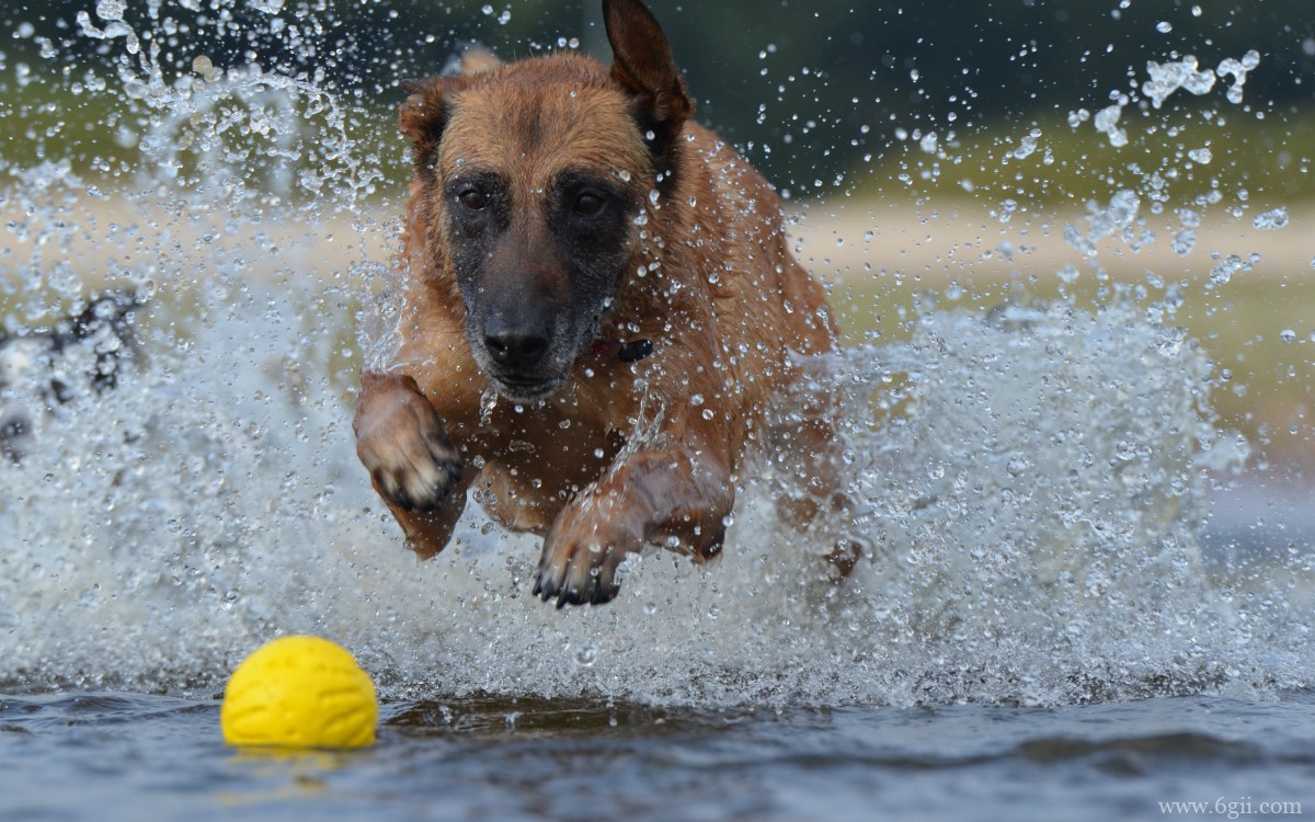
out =
[[[1227,450],[1205,359],[1134,306],[932,313],[818,363],[848,393],[853,522],[793,534],[747,477],[717,566],[654,552],[615,602],[558,612],[530,596],[537,541],[477,514],[438,559],[404,551],[330,356],[268,296],[227,295],[185,355],[62,409],[0,473],[0,676],[217,688],[277,633],[347,643],[389,694],[1057,702],[1260,664],[1197,544],[1201,463]],[[840,533],[869,555],[832,585]],[[1268,675],[1293,651],[1264,647]]]

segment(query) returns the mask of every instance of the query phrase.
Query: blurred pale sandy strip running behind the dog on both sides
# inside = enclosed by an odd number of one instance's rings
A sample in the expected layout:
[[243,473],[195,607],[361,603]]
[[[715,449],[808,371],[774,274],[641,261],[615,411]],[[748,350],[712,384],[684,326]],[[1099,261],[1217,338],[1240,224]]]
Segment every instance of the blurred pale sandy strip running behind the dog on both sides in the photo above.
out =
[[[235,224],[222,208],[187,209],[166,203],[128,203],[114,197],[83,199],[62,208],[37,208],[16,199],[0,203],[0,276],[13,279],[18,266],[71,263],[80,278],[97,280],[118,264],[133,266],[143,255],[168,264],[175,256],[204,255],[216,250],[245,253],[246,274],[270,276],[345,272],[362,260],[384,262],[396,247],[398,205],[380,203],[360,216],[327,213],[321,217],[287,216],[276,209],[262,224]],[[1081,209],[1053,213],[1015,212],[1003,220],[972,203],[939,208],[909,203],[814,203],[796,206],[790,234],[796,254],[814,274],[828,280],[902,274],[928,284],[990,283],[1018,272],[1039,278],[1073,267],[1097,267],[1120,279],[1147,271],[1193,281],[1208,278],[1220,259],[1236,255],[1258,259],[1253,272],[1302,281],[1312,275],[1315,258],[1315,205],[1289,209],[1287,225],[1260,229],[1252,208],[1233,217],[1223,206],[1207,212],[1195,229],[1190,250],[1174,251],[1184,230],[1172,212],[1139,214],[1128,242],[1122,230],[1097,239],[1086,256],[1065,239],[1065,228],[1078,235],[1091,230],[1090,214]],[[1147,234],[1143,237],[1143,234]],[[1149,242],[1147,239],[1149,238]],[[226,251],[224,251],[226,253]]]

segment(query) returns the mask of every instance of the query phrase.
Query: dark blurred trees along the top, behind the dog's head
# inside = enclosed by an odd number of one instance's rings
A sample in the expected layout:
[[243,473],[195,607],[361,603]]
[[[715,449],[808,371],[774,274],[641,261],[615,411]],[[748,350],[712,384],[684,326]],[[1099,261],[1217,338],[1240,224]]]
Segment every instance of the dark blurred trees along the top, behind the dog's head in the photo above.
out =
[[[1248,100],[1269,109],[1308,107],[1308,4],[652,0],[700,116],[798,195],[827,193],[838,179],[843,187],[865,157],[899,147],[899,129],[968,135],[999,122],[1044,125],[1076,108],[1094,112],[1111,93],[1132,91],[1147,60],[1194,54],[1214,67],[1255,49],[1261,63],[1247,82]],[[8,50],[0,99],[20,93],[20,62],[70,87],[88,72],[113,79],[121,42],[80,34],[76,16],[91,5],[50,0],[0,9],[0,30],[14,33],[0,46]],[[256,63],[305,75],[381,121],[401,97],[397,82],[439,71],[462,41],[509,58],[576,46],[605,57],[598,18],[593,1],[550,0],[209,0],[135,3],[125,14],[154,33],[143,45],[159,47],[167,82],[191,75],[199,55],[220,71]],[[71,116],[95,122],[96,113]],[[92,137],[76,128],[70,135]]]

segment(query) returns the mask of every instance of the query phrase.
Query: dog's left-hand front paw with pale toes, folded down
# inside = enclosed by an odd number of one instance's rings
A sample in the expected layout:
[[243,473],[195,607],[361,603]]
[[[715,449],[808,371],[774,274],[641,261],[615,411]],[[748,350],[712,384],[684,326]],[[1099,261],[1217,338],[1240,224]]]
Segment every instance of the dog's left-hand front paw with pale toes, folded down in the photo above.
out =
[[402,510],[437,509],[460,480],[462,458],[409,376],[364,375],[352,429],[375,491]]

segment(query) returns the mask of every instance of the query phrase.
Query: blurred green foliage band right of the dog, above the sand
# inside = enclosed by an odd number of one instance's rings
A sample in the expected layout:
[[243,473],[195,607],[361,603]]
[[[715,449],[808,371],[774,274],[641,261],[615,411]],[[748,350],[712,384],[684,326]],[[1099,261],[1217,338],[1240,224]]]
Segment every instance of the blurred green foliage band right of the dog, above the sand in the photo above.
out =
[[860,197],[968,199],[993,208],[1081,206],[1120,189],[1169,204],[1240,192],[1281,203],[1315,195],[1315,109],[1262,116],[1197,104],[1134,109],[1120,125],[1124,146],[1112,146],[1090,121],[1074,126],[1057,113],[965,135],[915,132],[852,175],[851,187]]

